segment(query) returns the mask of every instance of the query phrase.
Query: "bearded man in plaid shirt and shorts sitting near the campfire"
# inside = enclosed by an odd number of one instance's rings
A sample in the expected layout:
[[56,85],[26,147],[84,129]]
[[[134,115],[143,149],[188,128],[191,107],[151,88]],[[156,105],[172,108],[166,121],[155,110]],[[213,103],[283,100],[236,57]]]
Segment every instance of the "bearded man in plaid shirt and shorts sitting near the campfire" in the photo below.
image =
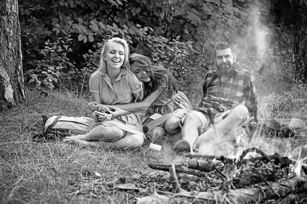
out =
[[[181,120],[182,140],[175,145],[176,152],[212,153],[216,144],[230,141],[237,127],[249,115],[256,118],[257,98],[253,76],[235,66],[234,47],[228,42],[217,42],[214,47],[216,70],[209,70],[203,84],[199,108]],[[210,125],[208,110],[214,122]],[[216,152],[215,152],[216,153]]]

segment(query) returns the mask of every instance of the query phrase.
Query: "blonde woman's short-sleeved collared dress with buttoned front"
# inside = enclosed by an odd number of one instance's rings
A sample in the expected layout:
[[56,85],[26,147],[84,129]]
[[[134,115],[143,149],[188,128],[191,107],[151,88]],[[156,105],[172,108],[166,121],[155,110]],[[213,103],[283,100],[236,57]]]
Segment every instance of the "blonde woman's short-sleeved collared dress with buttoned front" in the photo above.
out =
[[[139,102],[143,99],[143,84],[137,78],[131,78],[131,83],[127,81],[127,74],[124,68],[114,82],[111,84],[111,78],[103,70],[97,70],[90,77],[90,92],[99,93],[101,103],[105,105],[129,104]],[[92,121],[90,130],[97,125],[118,127],[121,130],[137,134],[145,139],[142,129],[142,122],[138,113],[131,113],[119,116],[127,124],[117,119],[104,120],[101,122]]]

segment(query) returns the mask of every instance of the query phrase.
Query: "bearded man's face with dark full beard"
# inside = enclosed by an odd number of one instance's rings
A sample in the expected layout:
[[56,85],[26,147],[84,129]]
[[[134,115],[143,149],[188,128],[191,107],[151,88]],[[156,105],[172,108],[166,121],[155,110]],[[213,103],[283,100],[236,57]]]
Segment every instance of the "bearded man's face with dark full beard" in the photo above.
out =
[[222,74],[231,73],[234,69],[235,61],[236,55],[232,55],[231,48],[215,50],[216,67]]

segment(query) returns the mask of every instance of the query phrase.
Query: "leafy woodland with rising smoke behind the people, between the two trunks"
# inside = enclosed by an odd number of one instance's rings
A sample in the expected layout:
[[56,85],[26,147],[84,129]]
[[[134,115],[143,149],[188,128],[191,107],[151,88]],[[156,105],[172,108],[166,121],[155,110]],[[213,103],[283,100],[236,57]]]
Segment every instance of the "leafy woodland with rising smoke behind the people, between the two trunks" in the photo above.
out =
[[19,1],[25,84],[86,94],[111,37],[168,68],[192,100],[215,67],[213,45],[221,40],[236,44],[240,68],[260,85],[293,84],[290,11],[290,1],[273,0]]

